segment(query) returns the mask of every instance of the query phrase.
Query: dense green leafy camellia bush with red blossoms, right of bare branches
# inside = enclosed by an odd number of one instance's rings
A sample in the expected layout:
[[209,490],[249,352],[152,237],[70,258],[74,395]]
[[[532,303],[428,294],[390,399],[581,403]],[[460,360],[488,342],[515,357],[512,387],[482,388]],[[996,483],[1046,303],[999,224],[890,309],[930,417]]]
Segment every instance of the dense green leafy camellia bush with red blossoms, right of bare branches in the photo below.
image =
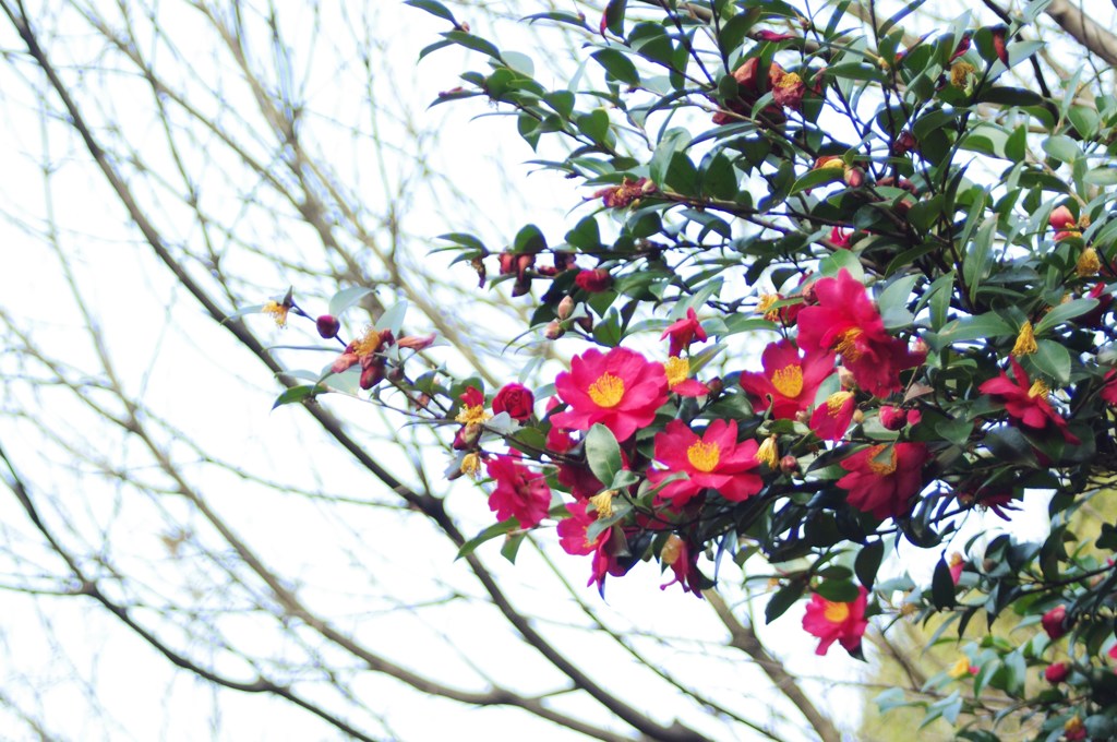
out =
[[[780,574],[767,620],[810,597],[804,628],[853,653],[862,611],[947,615],[960,634],[1042,617],[1027,641],[967,646],[928,681],[965,693],[926,720],[972,740],[997,739],[968,727],[994,714],[1038,719],[1037,739],[1109,736],[1117,531],[1091,549],[1073,516],[1117,472],[1117,103],[1091,105],[1077,76],[1065,93],[1006,82],[1040,51],[1022,32],[1044,3],[908,42],[906,12],[866,36],[848,2],[612,0],[600,23],[528,19],[583,35],[586,65],[557,88],[439,3],[410,4],[451,26],[422,56],[487,65],[436,103],[487,99],[564,153],[537,167],[593,189],[564,235],[527,225],[490,249],[450,234],[446,251],[531,303],[532,342],[593,348],[553,386],[494,394],[443,368],[413,378],[426,345],[397,322],[279,402],[355,381],[452,430],[448,475],[487,468],[502,521],[462,554],[502,536],[513,559],[548,508],[602,591],[653,560],[700,596],[700,554],[722,580],[760,554]],[[1042,542],[975,539],[927,586],[878,580],[897,543],[945,551],[971,511],[1011,519],[1035,489],[1054,492]],[[1057,651],[1067,672],[1029,683]],[[993,710],[987,688],[1012,703]]]

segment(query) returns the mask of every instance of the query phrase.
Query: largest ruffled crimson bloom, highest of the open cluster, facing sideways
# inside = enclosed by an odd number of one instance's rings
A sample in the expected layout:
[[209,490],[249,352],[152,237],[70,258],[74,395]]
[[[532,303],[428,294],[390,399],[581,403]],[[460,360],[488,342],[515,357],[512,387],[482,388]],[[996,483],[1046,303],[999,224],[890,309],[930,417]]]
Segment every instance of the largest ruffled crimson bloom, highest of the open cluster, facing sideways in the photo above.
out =
[[880,312],[844,268],[814,284],[818,306],[799,314],[799,346],[806,352],[838,351],[862,389],[887,397],[901,388],[899,372],[919,365],[922,353],[885,331]]

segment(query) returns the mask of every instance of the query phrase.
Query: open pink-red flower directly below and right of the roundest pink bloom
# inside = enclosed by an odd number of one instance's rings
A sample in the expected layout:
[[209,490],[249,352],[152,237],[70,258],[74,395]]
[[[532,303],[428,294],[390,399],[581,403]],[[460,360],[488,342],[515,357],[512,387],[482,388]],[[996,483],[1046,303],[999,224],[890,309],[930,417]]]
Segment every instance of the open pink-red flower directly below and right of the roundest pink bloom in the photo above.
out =
[[685,505],[705,487],[741,502],[764,485],[757,475],[750,474],[760,467],[757,448],[752,439],[737,443],[736,420],[714,420],[700,438],[682,420],[671,420],[656,436],[656,460],[667,469],[649,469],[648,479],[658,485],[672,474],[686,473],[688,478],[671,482],[659,492],[660,500],[670,500],[675,506]]

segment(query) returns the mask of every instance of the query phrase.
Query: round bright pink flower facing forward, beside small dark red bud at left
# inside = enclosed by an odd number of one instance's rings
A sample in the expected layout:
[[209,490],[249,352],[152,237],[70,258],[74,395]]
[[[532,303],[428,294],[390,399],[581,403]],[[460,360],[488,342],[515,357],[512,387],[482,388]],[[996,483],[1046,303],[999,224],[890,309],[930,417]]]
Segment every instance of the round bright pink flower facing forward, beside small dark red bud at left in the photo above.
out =
[[570,409],[552,415],[552,424],[589,430],[600,422],[617,440],[628,440],[667,402],[667,374],[662,363],[627,348],[608,353],[591,348],[574,356],[569,372],[558,374],[555,390]]

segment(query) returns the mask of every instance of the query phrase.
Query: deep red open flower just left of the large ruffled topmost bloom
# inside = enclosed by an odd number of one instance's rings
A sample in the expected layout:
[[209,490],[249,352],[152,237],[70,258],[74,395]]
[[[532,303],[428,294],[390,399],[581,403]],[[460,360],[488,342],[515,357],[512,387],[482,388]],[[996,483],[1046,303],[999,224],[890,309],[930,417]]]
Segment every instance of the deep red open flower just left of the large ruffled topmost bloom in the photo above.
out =
[[800,358],[799,350],[789,340],[770,343],[761,355],[764,372],[745,371],[741,387],[748,393],[757,411],[772,407],[772,417],[793,420],[795,415],[814,403],[819,384],[833,373],[832,353],[808,353]]

